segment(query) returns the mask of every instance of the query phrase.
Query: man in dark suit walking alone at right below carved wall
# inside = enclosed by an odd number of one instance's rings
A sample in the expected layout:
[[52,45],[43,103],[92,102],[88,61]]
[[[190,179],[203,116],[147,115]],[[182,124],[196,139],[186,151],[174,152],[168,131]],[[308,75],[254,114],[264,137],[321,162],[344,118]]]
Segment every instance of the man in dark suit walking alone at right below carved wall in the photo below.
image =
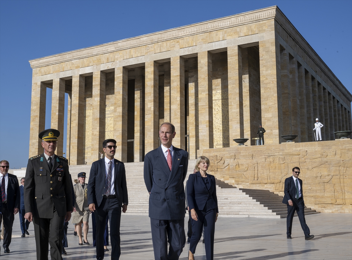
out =
[[300,173],[300,168],[294,167],[292,169],[292,176],[285,179],[285,196],[282,203],[287,204],[287,238],[292,238],[292,221],[296,211],[301,222],[304,237],[306,240],[309,240],[312,239],[314,235],[310,235],[310,230],[306,224],[306,219],[304,218],[302,180],[298,179]]

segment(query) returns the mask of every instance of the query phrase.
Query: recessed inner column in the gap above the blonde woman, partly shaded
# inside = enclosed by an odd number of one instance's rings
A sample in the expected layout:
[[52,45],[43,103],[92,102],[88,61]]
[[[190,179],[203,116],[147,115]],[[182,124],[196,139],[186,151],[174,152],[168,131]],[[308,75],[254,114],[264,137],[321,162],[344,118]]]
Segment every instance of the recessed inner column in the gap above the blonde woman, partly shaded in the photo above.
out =
[[188,72],[189,158],[197,159],[199,149],[198,69]]

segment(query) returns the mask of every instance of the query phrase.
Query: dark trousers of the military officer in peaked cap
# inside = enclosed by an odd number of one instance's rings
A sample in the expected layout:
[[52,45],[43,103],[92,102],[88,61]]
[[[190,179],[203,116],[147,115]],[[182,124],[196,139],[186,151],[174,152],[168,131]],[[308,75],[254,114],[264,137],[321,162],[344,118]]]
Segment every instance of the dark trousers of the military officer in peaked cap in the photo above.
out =
[[59,216],[54,207],[52,218],[33,218],[36,236],[37,260],[48,260],[48,241],[51,260],[62,260],[62,239],[65,216]]

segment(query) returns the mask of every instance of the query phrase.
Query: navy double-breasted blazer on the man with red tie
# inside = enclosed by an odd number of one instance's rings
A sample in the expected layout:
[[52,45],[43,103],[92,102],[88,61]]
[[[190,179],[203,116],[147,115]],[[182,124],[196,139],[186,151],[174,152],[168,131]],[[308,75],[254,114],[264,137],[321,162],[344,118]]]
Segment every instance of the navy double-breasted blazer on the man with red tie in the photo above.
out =
[[171,220],[184,218],[183,181],[188,168],[188,153],[174,147],[171,172],[161,146],[144,157],[144,182],[149,195],[149,217]]

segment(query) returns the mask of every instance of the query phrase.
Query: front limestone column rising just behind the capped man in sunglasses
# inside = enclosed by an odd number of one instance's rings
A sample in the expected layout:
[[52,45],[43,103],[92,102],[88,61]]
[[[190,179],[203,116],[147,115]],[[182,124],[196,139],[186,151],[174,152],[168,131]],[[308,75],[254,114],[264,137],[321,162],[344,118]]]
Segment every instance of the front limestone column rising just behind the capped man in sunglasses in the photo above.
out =
[[122,162],[127,162],[127,83],[127,68],[115,68],[114,136],[116,157]]

